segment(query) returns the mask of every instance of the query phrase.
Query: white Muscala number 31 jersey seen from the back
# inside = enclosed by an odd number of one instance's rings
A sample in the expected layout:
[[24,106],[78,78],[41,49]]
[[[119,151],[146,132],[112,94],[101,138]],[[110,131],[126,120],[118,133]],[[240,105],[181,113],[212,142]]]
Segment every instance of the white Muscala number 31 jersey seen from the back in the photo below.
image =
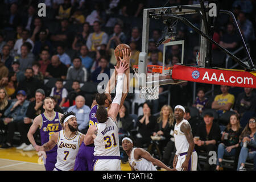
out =
[[97,123],[94,138],[94,156],[120,156],[118,127],[112,118],[105,123]]

